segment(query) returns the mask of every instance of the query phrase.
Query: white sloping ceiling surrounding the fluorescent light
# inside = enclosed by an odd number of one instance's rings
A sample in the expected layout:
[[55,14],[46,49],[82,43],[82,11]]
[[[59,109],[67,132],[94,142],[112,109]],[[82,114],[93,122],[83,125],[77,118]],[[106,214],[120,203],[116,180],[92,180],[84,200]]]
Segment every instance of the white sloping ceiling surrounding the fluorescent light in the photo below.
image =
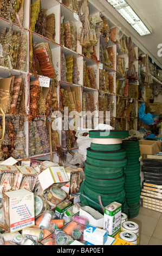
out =
[[158,57],[158,45],[162,44],[162,0],[126,0],[130,5],[132,3],[135,5],[135,8],[138,9],[138,15],[141,16],[141,19],[144,17],[152,28],[152,34],[145,36],[140,36],[107,0],[92,2],[95,2],[98,9],[104,11],[103,15],[107,14],[105,16],[108,16],[112,22],[115,22],[116,26],[121,26],[126,34],[131,36],[135,44],[139,42],[141,50],[148,53],[154,62],[162,68],[162,57]]

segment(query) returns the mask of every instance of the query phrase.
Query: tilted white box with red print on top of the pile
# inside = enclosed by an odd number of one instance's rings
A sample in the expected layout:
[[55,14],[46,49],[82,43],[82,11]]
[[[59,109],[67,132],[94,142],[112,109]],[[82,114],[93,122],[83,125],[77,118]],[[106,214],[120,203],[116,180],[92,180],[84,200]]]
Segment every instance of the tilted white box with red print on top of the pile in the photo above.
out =
[[69,182],[68,175],[64,167],[51,166],[43,170],[42,173],[38,174],[38,179],[42,186],[42,190],[46,190],[51,185],[56,184],[57,186],[63,186]]

